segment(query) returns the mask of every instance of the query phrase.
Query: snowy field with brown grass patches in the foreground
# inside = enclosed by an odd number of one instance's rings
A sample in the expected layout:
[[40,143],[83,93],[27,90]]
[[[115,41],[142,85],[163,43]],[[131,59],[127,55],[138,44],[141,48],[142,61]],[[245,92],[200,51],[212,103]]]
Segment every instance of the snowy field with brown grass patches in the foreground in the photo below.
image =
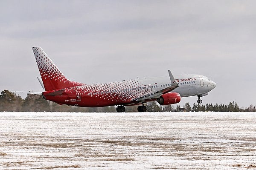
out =
[[4,170],[250,168],[252,112],[0,112]]

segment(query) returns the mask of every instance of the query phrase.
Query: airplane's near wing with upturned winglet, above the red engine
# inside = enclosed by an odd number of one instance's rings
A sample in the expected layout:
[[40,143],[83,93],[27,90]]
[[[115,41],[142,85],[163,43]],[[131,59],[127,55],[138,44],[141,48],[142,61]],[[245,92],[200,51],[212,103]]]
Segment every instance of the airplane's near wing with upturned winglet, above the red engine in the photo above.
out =
[[136,98],[132,101],[144,101],[144,100],[151,99],[151,98],[160,98],[161,95],[171,92],[172,90],[176,89],[179,85],[175,81],[175,78],[173,77],[172,72],[170,70],[168,70],[168,72],[169,72],[169,77],[171,80],[171,86],[163,88],[157,92],[153,92],[153,93],[141,96],[140,98]]

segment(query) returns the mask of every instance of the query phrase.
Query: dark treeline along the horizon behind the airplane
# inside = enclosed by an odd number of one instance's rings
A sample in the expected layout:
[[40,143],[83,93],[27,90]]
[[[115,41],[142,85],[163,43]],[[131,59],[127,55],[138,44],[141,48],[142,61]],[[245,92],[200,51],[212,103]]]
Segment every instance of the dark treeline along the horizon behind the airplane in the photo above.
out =
[[[157,102],[147,104],[148,112],[256,112],[256,108],[250,105],[248,108],[239,108],[235,102],[229,104],[193,104],[191,107],[186,103],[183,107],[177,105],[160,106]],[[126,107],[125,112],[137,112],[137,106]],[[8,90],[3,90],[0,95],[0,111],[8,112],[116,112],[116,107],[85,108],[67,105],[58,105],[55,102],[47,101],[41,95],[28,94],[25,99]]]

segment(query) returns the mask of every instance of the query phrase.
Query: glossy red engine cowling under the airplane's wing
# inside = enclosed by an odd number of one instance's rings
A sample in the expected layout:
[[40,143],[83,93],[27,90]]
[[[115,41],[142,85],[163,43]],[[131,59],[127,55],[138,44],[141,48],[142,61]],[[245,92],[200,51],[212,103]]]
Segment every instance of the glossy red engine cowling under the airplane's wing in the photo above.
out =
[[180,102],[180,94],[175,92],[169,92],[164,95],[161,95],[157,99],[157,102],[160,105],[176,104]]

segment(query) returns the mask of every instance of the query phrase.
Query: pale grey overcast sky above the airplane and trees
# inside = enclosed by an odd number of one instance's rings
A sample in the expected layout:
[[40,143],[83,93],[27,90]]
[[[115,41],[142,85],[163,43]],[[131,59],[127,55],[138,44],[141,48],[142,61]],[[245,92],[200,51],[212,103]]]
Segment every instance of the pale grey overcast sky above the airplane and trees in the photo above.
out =
[[[200,74],[203,104],[256,105],[256,1],[1,0],[0,91],[42,91],[32,46],[70,80]],[[193,104],[197,97],[182,98]]]

